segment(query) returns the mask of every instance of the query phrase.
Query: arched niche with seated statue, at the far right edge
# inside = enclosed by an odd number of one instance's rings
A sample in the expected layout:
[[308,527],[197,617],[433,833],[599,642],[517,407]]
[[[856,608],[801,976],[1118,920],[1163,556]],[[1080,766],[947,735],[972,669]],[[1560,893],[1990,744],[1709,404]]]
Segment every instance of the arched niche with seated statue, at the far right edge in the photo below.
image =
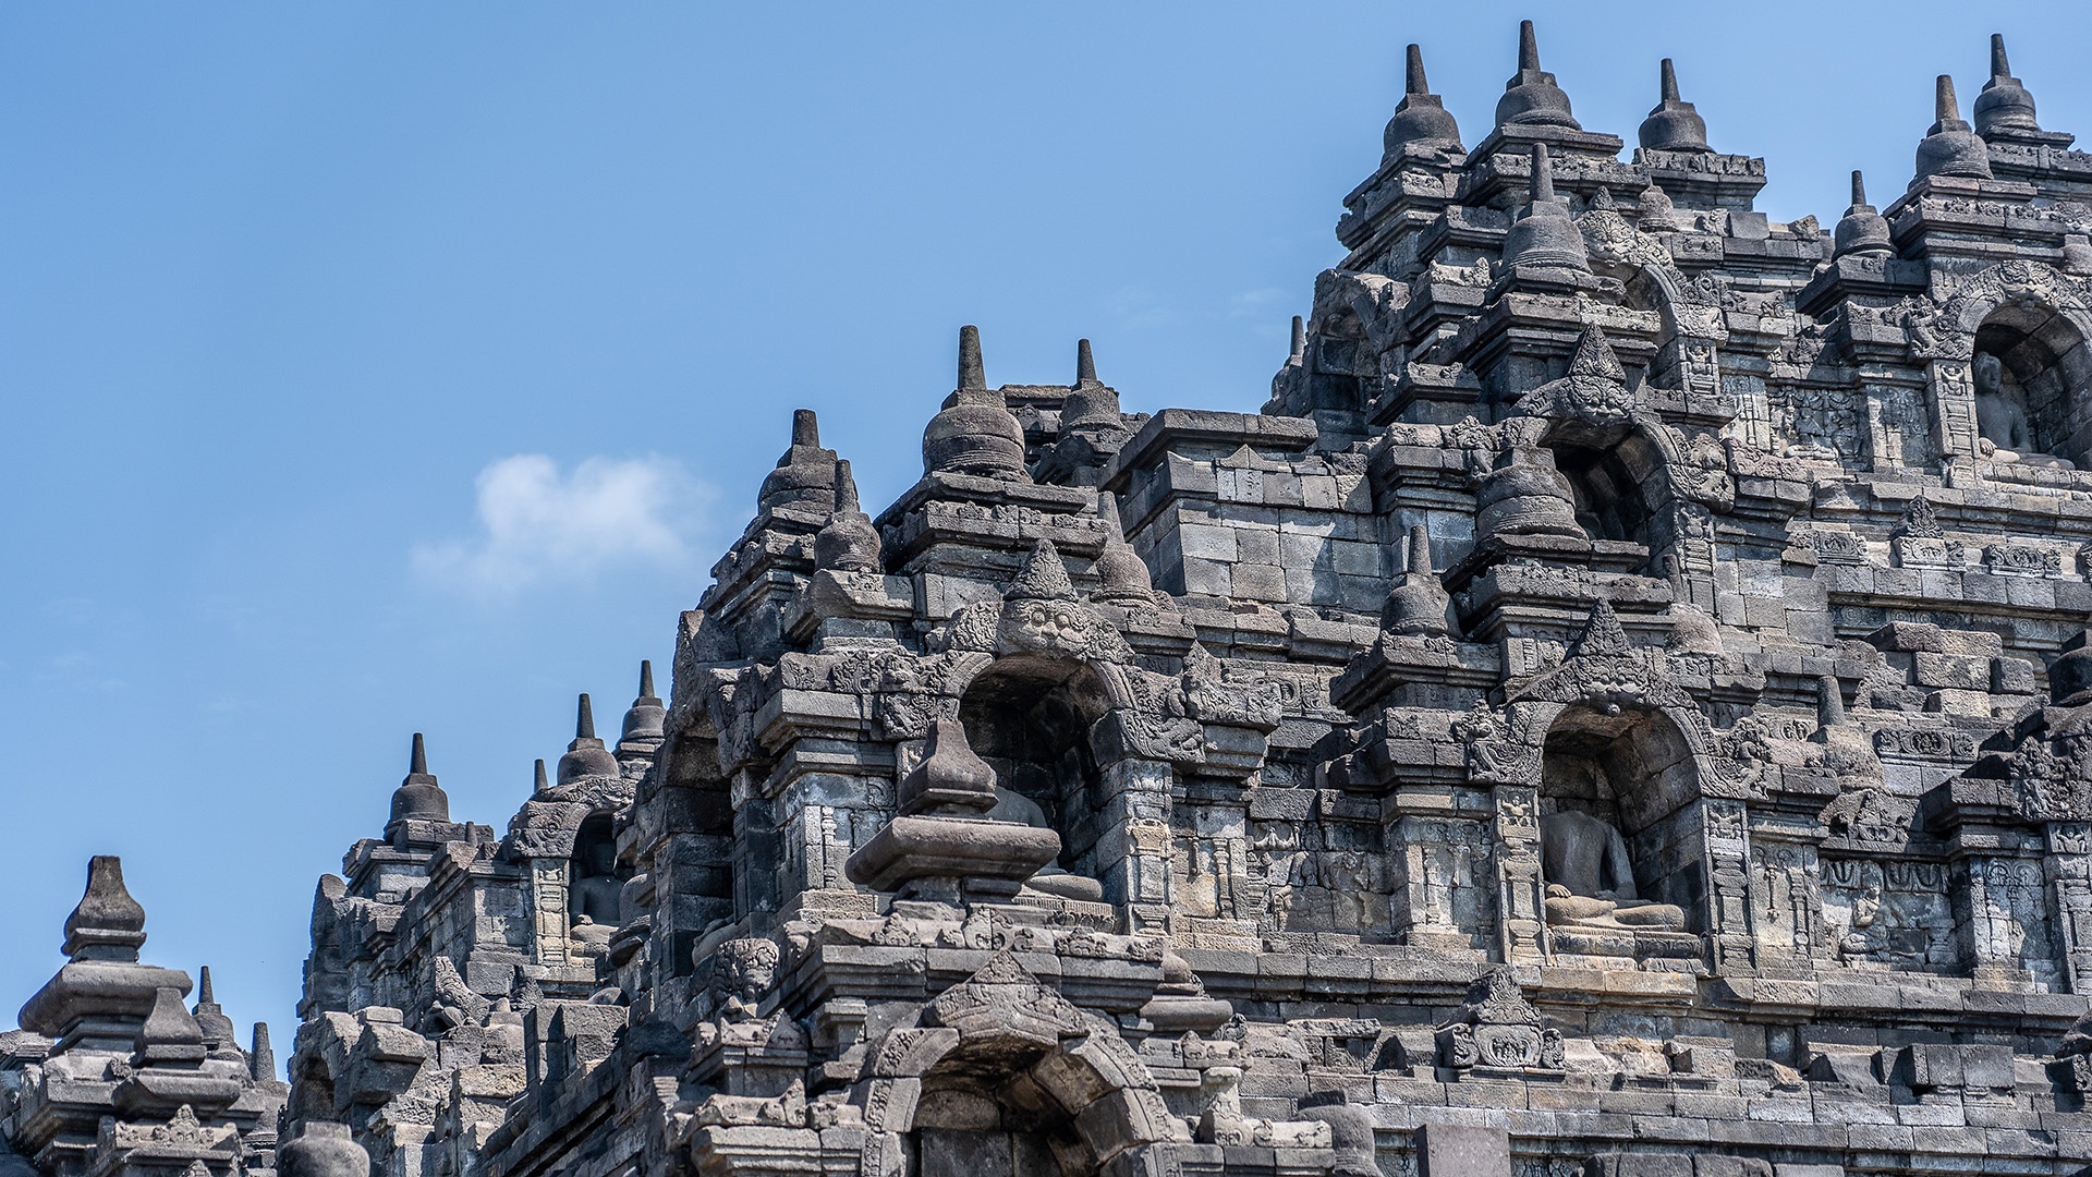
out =
[[2000,306],[1975,333],[1971,362],[1977,434],[2015,459],[2092,454],[2092,356],[2084,337],[2042,304]]

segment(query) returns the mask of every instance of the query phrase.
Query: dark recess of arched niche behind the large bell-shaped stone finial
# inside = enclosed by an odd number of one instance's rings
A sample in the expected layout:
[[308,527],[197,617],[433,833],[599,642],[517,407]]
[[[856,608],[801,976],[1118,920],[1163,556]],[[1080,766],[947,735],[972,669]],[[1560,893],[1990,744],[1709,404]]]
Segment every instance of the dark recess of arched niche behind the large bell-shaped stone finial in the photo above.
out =
[[998,658],[958,702],[967,743],[996,771],[996,787],[1021,798],[1006,798],[996,817],[1054,829],[1059,865],[1092,880],[1102,878],[1098,819],[1111,806],[1090,729],[1107,712],[1111,695],[1096,668],[1050,653]]

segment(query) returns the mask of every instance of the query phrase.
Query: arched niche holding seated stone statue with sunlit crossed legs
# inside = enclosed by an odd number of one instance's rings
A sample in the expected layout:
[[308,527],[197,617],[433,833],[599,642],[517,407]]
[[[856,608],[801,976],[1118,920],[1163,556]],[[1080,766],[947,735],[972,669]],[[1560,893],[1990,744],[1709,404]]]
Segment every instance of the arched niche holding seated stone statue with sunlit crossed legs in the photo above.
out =
[[1697,955],[1699,775],[1655,710],[1575,706],[1548,731],[1540,861],[1554,951]]

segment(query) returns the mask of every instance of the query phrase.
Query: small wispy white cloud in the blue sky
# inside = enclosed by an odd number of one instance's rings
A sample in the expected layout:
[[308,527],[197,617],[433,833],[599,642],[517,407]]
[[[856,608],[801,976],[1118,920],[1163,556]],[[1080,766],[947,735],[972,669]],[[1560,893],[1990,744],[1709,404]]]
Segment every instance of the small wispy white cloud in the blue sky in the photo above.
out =
[[508,593],[686,561],[709,490],[659,457],[596,457],[563,475],[544,454],[517,454],[479,471],[477,498],[479,534],[416,547],[414,570],[452,588]]

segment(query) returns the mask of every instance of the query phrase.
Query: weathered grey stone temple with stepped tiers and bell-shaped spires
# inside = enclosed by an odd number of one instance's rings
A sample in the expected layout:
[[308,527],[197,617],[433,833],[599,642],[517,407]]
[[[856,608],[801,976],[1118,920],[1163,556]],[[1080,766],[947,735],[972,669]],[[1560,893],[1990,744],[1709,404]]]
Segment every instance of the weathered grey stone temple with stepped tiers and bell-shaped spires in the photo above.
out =
[[416,739],[287,1087],[90,886],[0,1169],[2092,1171],[2092,155],[1994,42],[1826,232],[1408,65],[1264,413],[967,329],[877,517],[801,413],[665,702],[506,831]]

